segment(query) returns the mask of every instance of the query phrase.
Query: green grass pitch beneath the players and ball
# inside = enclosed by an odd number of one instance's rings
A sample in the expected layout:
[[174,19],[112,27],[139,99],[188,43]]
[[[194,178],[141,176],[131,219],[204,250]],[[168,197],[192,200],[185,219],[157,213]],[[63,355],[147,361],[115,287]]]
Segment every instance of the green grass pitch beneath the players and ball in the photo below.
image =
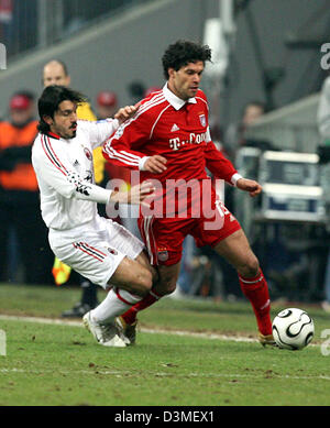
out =
[[[79,296],[78,288],[3,284],[0,314],[55,318]],[[245,303],[165,298],[140,314],[139,343],[125,349],[101,347],[81,327],[0,319],[7,333],[0,405],[329,406],[330,356],[319,347],[321,331],[330,328],[329,316],[317,307],[304,308],[315,320],[315,345],[295,352],[174,334],[255,337],[254,316]],[[280,309],[274,307],[272,316]]]

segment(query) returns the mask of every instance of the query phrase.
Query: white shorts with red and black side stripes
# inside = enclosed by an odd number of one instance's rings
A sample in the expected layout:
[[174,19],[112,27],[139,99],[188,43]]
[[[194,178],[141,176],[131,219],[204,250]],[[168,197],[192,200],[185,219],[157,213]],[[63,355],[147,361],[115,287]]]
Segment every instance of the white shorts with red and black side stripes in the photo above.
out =
[[129,230],[99,216],[75,229],[51,229],[48,240],[57,259],[103,288],[125,256],[134,260],[144,249]]

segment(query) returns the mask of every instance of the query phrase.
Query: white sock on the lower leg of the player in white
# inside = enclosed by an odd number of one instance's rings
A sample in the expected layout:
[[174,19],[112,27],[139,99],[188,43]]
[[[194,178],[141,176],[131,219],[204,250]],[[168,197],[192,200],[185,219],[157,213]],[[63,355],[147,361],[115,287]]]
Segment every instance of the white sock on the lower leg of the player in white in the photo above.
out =
[[131,306],[140,300],[142,300],[141,296],[113,287],[110,289],[105,300],[91,310],[91,317],[97,322],[112,322],[116,317],[124,314]]

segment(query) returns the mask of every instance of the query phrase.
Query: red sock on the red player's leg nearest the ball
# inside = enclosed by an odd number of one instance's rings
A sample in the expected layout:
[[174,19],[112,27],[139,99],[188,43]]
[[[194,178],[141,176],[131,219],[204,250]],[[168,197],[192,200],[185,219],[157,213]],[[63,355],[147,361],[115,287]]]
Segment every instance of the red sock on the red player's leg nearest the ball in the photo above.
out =
[[272,334],[270,293],[262,271],[260,270],[254,278],[243,278],[239,275],[239,279],[244,296],[253,307],[258,331],[264,336]]

